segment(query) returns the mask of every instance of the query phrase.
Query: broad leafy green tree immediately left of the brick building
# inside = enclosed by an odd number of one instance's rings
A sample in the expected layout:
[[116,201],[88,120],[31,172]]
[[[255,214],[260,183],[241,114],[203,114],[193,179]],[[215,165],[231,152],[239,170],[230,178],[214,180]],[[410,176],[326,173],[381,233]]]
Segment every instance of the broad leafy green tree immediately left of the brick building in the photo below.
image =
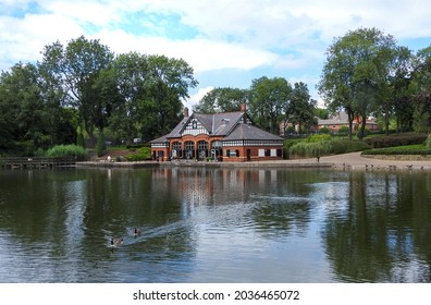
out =
[[107,96],[118,100],[111,103],[110,130],[128,141],[169,133],[181,120],[188,89],[197,85],[184,60],[137,52],[118,56],[104,74],[103,84],[115,84],[116,90]]

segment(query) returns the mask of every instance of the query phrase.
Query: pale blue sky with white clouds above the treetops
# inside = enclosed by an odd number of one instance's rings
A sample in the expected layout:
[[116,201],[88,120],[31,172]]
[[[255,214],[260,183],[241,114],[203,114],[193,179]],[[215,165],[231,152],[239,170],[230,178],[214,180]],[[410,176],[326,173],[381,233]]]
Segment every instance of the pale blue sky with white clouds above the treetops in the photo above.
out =
[[41,60],[44,47],[84,35],[115,54],[182,58],[199,82],[192,108],[214,87],[284,77],[316,84],[334,39],[375,27],[412,51],[431,46],[429,0],[0,0],[0,71]]

